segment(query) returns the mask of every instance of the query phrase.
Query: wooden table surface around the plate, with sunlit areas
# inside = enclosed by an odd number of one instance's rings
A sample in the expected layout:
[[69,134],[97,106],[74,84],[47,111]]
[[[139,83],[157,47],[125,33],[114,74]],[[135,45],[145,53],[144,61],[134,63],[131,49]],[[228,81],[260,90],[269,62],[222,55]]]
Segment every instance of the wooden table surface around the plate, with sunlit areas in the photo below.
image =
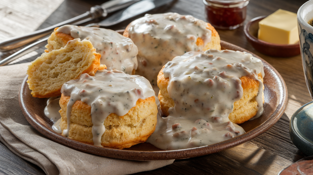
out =
[[[50,2],[42,0],[40,3],[28,0],[23,2],[13,3],[8,0],[0,2],[0,40],[36,30],[36,28],[29,28],[30,24],[39,26],[37,29],[42,29],[62,22],[89,10],[93,5],[101,4],[103,1],[58,0]],[[45,2],[49,4],[49,8],[45,6]],[[254,17],[269,15],[279,8],[297,12],[303,3],[305,0],[251,0],[247,8],[245,23]],[[34,7],[38,8],[38,14],[31,13],[33,11],[30,9]],[[173,4],[160,7],[150,13],[163,12],[190,14],[205,20],[202,0],[177,0]],[[41,16],[37,16],[39,13]],[[40,20],[42,22],[38,24]],[[111,29],[124,29],[131,21],[123,22]],[[289,101],[281,119],[259,137],[237,147],[206,156],[175,160],[173,164],[166,167],[137,174],[277,174],[282,168],[306,156],[295,147],[289,136],[289,121],[292,114],[312,100],[305,85],[301,56],[275,58],[263,55],[248,43],[243,28],[217,31],[221,40],[252,51],[282,75],[288,88]],[[12,51],[0,52],[0,59],[12,53]],[[36,56],[28,57],[30,58],[18,63],[32,61]],[[36,165],[17,157],[0,142],[0,174],[8,172],[8,170],[12,174],[44,174]]]

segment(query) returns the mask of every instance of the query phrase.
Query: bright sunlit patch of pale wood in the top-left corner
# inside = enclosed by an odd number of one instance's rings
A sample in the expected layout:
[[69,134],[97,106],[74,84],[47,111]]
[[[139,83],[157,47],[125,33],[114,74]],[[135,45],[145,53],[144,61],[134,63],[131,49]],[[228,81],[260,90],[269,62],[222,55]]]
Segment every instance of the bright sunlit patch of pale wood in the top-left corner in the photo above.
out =
[[64,0],[1,0],[0,41],[35,31]]

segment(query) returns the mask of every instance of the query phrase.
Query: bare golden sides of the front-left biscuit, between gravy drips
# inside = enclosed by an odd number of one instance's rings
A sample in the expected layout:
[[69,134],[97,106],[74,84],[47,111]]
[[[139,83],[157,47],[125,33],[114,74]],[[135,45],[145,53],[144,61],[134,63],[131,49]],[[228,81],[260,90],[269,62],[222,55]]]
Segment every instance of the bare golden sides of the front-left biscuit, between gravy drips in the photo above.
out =
[[[67,103],[69,96],[61,96],[60,127],[67,128]],[[69,138],[88,144],[93,144],[91,107],[82,101],[76,101],[70,116]],[[126,115],[110,114],[104,121],[105,133],[101,145],[107,148],[129,148],[137,143],[145,142],[156,127],[157,106],[155,97],[145,100],[138,99],[136,106]]]

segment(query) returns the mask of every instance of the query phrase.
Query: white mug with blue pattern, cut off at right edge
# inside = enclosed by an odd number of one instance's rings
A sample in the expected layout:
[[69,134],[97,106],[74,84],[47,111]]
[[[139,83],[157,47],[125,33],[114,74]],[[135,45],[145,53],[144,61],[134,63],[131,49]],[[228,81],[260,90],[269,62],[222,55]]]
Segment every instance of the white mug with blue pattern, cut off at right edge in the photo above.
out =
[[313,0],[305,2],[297,13],[302,65],[306,85],[313,99],[313,27],[308,23],[311,19],[313,19]]

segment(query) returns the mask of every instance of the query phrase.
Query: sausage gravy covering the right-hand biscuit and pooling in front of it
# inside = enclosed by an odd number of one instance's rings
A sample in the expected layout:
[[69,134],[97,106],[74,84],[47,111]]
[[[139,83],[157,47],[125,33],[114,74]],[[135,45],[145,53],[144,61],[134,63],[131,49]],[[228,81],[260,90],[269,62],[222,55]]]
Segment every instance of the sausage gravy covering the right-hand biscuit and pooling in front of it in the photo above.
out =
[[164,150],[210,145],[244,134],[228,115],[241,99],[242,76],[259,81],[259,117],[263,112],[263,63],[249,53],[230,50],[188,52],[175,57],[163,69],[169,78],[169,96],[175,105],[168,117],[159,117],[155,132],[147,142]]

